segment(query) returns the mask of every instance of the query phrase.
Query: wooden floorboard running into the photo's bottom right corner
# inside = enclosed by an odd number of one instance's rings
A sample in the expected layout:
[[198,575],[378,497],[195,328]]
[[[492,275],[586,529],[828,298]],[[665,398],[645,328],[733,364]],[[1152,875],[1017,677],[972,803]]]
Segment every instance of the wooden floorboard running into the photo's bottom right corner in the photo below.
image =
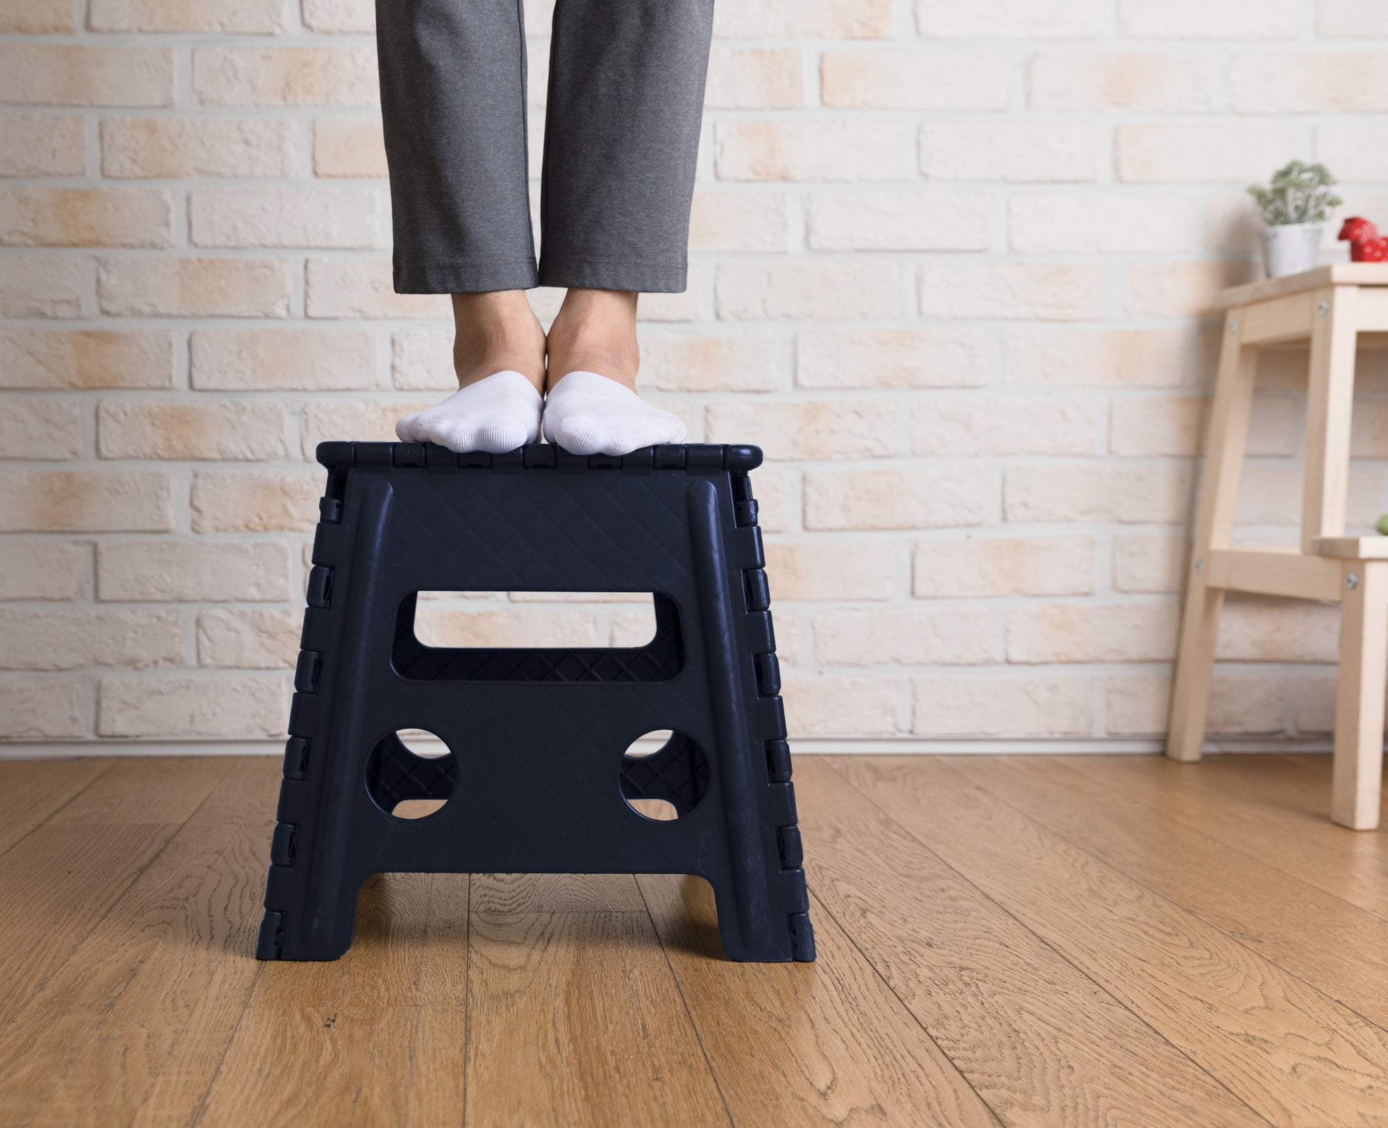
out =
[[1271,1122],[1388,1121],[1388,1035],[1353,1011],[938,760],[836,767]]

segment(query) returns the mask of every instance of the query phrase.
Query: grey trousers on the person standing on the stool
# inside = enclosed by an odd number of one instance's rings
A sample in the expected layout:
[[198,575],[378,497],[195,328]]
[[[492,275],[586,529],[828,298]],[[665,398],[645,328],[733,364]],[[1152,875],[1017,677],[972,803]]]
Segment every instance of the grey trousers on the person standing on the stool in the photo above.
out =
[[396,290],[683,290],[713,0],[557,0],[539,269],[520,4],[376,3]]

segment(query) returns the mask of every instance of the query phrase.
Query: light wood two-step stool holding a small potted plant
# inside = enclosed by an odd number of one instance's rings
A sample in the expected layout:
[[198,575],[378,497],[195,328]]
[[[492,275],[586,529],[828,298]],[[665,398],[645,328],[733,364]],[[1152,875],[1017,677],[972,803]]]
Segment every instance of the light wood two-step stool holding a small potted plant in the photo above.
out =
[[[1331,818],[1378,827],[1388,682],[1388,536],[1345,536],[1355,354],[1388,343],[1388,263],[1339,263],[1220,293],[1224,340],[1210,413],[1166,754],[1201,758],[1226,592],[1339,603]],[[1366,335],[1381,335],[1366,339]],[[1301,546],[1233,547],[1258,350],[1310,342]]]

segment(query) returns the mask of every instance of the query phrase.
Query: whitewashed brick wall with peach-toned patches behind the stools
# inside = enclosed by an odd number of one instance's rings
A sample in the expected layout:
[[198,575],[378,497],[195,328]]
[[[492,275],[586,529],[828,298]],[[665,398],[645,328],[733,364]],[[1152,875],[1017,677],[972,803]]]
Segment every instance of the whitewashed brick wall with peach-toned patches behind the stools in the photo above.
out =
[[[536,135],[551,10],[527,4]],[[0,739],[283,729],[314,445],[390,438],[450,385],[447,300],[390,288],[372,19],[0,4]],[[1388,219],[1385,60],[1380,0],[719,3],[691,289],[643,301],[643,379],[691,440],[766,449],[798,733],[1160,732],[1206,306],[1256,271],[1242,186],[1319,157]],[[1242,542],[1295,538],[1303,365],[1264,363]],[[1363,528],[1384,354],[1359,392]],[[611,600],[428,615],[457,642],[650,631]],[[1212,731],[1323,732],[1335,635],[1231,600]]]

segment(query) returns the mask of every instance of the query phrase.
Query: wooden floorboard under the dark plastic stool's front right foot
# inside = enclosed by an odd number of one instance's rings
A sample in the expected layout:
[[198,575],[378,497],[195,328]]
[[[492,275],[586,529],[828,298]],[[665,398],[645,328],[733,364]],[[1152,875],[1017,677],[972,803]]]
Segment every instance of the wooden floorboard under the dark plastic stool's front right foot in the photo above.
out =
[[708,882],[637,882],[734,1124],[998,1122],[822,906],[813,964],[738,964]]

